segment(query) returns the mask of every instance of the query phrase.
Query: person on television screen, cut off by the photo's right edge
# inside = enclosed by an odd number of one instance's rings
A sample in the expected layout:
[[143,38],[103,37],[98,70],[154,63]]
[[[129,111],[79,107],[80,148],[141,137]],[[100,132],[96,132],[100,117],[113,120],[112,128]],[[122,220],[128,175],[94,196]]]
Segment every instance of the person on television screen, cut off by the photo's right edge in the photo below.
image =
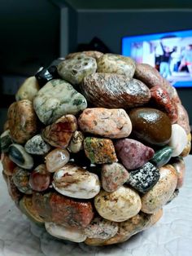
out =
[[185,66],[187,67],[190,76],[192,76],[192,44],[185,47],[183,58],[179,66],[179,71],[181,71]]

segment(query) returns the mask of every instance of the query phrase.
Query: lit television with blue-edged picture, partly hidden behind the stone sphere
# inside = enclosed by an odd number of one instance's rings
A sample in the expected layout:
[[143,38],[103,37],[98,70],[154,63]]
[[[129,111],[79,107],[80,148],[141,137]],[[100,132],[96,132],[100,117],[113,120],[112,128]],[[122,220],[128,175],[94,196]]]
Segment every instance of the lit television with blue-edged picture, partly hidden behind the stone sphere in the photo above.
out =
[[122,55],[151,64],[175,87],[192,87],[192,29],[126,36]]

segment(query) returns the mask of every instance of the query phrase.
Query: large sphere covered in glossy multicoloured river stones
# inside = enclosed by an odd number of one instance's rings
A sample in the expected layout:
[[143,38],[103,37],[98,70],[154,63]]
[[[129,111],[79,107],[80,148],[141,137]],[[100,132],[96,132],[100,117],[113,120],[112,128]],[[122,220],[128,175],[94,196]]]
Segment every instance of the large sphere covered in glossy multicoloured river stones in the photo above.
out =
[[50,235],[129,240],[177,196],[190,152],[177,90],[148,64],[77,52],[29,77],[1,135],[15,205]]

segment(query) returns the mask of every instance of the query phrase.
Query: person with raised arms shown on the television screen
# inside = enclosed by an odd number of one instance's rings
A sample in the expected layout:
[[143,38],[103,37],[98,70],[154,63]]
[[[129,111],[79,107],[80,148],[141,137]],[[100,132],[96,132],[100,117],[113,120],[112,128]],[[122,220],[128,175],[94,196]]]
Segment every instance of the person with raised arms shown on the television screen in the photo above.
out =
[[160,45],[162,47],[163,55],[161,55],[160,58],[159,72],[164,78],[168,78],[172,75],[170,71],[171,55],[172,52],[177,50],[177,47],[174,47],[172,51],[170,51],[170,48],[168,46],[164,46],[162,42],[160,42]]

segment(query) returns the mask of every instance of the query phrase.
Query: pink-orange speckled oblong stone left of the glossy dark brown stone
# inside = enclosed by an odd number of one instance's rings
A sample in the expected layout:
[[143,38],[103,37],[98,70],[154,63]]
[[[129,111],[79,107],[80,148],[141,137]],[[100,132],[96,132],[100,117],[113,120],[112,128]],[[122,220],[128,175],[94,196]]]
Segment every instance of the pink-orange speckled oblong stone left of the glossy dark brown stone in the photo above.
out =
[[132,124],[124,109],[86,108],[78,119],[81,130],[103,137],[128,137]]

